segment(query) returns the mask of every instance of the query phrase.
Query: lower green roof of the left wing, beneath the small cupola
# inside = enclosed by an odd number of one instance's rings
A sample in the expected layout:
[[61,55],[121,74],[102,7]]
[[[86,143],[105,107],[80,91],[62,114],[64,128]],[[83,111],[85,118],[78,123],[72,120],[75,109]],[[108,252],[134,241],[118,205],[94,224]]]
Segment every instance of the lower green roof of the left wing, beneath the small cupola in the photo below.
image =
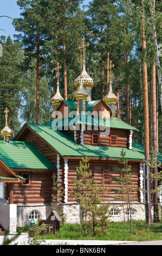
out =
[[33,142],[0,141],[0,159],[9,168],[56,169]]

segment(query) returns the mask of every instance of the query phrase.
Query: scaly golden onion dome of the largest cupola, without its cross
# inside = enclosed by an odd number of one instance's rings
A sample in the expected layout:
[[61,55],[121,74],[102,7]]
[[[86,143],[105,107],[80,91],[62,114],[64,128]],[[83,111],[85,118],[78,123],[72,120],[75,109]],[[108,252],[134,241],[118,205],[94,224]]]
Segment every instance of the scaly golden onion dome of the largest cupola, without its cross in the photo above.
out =
[[[80,86],[80,76],[75,79],[75,86],[78,88]],[[94,86],[92,77],[87,74],[85,62],[83,62],[83,71],[82,71],[82,84],[84,88]]]

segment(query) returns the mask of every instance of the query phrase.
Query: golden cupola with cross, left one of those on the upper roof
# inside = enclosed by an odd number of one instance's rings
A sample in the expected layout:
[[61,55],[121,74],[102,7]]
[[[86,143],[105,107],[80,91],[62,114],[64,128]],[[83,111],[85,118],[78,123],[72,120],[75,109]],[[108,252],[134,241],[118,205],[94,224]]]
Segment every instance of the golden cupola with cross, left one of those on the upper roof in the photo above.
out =
[[57,63],[56,71],[57,71],[57,89],[55,95],[51,98],[51,102],[53,103],[53,112],[56,111],[57,107],[59,107],[60,103],[63,99],[63,97],[60,94],[59,90],[59,69],[61,69],[61,66],[59,63]]

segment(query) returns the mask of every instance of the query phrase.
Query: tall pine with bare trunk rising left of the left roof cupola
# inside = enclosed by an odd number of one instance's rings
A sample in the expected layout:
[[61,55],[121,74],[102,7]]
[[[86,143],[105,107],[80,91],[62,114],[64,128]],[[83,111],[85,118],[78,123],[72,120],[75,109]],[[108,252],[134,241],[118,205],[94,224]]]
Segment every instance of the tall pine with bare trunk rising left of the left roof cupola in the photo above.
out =
[[35,62],[36,70],[36,124],[39,123],[40,104],[40,76],[45,59],[45,38],[47,31],[46,9],[48,3],[42,0],[18,0],[17,5],[22,10],[21,18],[14,20],[16,31],[21,32],[16,35],[17,40],[23,42],[25,52],[24,67],[31,68],[31,63]]

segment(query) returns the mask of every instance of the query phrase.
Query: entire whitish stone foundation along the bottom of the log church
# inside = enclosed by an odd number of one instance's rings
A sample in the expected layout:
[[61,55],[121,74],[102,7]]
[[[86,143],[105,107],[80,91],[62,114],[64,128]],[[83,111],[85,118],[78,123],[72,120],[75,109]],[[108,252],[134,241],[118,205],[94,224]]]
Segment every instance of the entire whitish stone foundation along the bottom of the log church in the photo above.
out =
[[[108,217],[109,221],[124,221],[123,206],[120,202],[110,203],[109,210],[114,210],[114,215]],[[131,204],[133,210],[132,220],[145,220],[145,204],[133,203]],[[24,227],[24,225],[30,226],[29,215],[31,211],[37,211],[41,220],[46,220],[51,212],[51,205],[17,205],[17,226]],[[81,209],[78,203],[64,203],[56,207],[55,210],[60,214],[63,213],[64,222],[66,223],[81,223]],[[124,205],[125,220],[127,205]]]

